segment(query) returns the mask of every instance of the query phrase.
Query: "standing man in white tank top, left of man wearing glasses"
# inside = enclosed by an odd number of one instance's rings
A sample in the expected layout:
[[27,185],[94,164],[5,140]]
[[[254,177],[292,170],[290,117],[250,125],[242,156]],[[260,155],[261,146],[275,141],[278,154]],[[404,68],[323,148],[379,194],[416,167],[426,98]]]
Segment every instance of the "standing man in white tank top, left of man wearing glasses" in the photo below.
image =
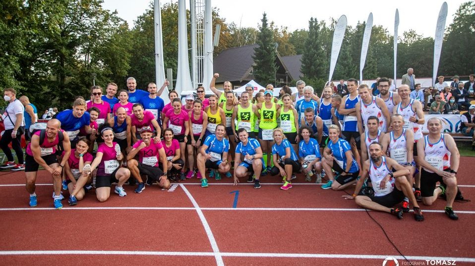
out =
[[384,101],[381,98],[373,96],[366,84],[359,86],[358,94],[361,100],[356,103],[355,108],[359,134],[366,131],[364,125],[366,125],[368,117],[370,116],[377,117],[379,119],[379,130],[386,132],[386,123],[390,121],[390,115]]

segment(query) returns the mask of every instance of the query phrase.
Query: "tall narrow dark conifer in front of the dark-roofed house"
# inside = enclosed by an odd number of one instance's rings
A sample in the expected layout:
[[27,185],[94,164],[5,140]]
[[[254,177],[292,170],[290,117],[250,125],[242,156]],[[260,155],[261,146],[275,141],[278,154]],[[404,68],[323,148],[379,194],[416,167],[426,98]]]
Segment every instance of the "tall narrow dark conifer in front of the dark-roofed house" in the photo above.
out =
[[267,23],[267,15],[262,15],[262,24],[257,34],[256,48],[254,48],[254,77],[260,84],[274,84],[276,77],[276,47],[271,28]]

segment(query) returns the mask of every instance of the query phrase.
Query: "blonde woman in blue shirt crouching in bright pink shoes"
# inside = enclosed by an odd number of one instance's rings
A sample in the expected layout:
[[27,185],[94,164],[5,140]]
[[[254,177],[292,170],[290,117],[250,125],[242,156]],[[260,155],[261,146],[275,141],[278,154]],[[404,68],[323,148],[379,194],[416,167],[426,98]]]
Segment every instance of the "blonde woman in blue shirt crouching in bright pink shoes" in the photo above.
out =
[[293,173],[300,172],[301,166],[298,163],[297,154],[294,148],[290,144],[289,140],[285,137],[281,128],[277,128],[273,133],[275,144],[272,146],[272,159],[274,166],[270,173],[271,176],[280,174],[285,182],[280,189],[287,190],[292,188],[291,179],[297,178]]

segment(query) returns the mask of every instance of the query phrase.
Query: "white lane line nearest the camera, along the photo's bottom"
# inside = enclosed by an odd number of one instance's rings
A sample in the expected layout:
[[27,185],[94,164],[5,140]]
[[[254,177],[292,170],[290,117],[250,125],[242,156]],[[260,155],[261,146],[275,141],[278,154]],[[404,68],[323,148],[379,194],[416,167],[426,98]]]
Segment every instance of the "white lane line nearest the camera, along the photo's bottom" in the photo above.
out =
[[[104,251],[104,250],[11,250],[0,251],[0,255],[148,255],[148,256],[206,256],[219,254],[220,257],[268,257],[268,258],[324,258],[324,259],[371,259],[384,260],[393,257],[404,260],[395,255],[367,255],[367,254],[308,254],[308,253],[242,253],[242,252],[169,252],[169,251]],[[425,257],[406,256],[414,261],[456,261],[474,263],[475,258],[466,257]]]

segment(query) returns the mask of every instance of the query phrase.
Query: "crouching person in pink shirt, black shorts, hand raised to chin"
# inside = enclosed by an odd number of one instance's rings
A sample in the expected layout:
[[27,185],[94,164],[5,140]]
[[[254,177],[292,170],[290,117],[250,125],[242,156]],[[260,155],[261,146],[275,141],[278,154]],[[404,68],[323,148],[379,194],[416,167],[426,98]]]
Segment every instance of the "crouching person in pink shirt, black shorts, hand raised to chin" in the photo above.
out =
[[[165,130],[171,131],[170,129]],[[141,140],[133,144],[132,150],[127,154],[127,168],[133,177],[140,180],[135,193],[140,193],[145,189],[145,185],[142,181],[140,174],[147,175],[147,184],[152,184],[153,181],[158,181],[160,186],[169,189],[170,181],[167,179],[167,172],[163,172],[159,168],[159,161],[162,165],[167,164],[165,150],[163,149],[162,142],[152,141],[152,129],[150,127],[142,128],[140,133]],[[178,150],[179,145],[176,143]],[[135,156],[138,154],[138,161]]]

